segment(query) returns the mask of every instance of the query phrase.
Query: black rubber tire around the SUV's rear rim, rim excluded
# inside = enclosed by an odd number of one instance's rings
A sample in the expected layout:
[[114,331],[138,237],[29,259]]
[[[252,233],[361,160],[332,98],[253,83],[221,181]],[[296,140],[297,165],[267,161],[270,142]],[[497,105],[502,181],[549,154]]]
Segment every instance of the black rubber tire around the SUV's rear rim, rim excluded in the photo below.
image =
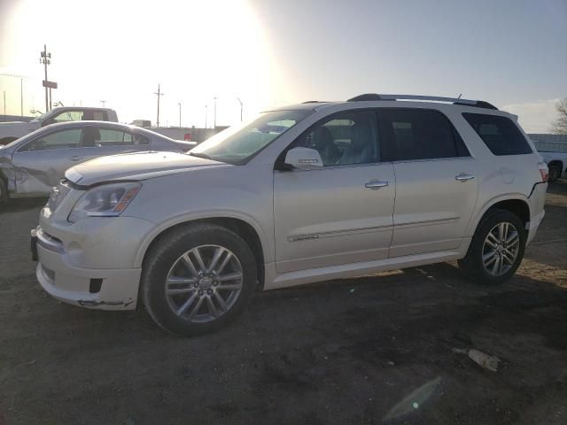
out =
[[[483,250],[485,239],[488,233],[499,223],[511,223],[517,230],[519,245],[517,247],[517,256],[509,270],[501,275],[494,275],[485,269],[483,262]],[[477,231],[470,241],[469,251],[464,259],[458,260],[459,267],[471,281],[485,286],[500,285],[509,280],[516,273],[517,267],[520,266],[524,258],[526,233],[524,230],[524,222],[520,220],[516,214],[506,210],[495,209],[489,213],[478,224]]]

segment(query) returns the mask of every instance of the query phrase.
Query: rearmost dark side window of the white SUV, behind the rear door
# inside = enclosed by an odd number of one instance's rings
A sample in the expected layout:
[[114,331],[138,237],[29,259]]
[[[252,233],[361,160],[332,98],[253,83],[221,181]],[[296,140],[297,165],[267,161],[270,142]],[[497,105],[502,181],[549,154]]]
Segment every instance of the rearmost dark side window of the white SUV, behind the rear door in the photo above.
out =
[[532,153],[524,135],[509,118],[483,113],[463,113],[462,116],[494,155]]

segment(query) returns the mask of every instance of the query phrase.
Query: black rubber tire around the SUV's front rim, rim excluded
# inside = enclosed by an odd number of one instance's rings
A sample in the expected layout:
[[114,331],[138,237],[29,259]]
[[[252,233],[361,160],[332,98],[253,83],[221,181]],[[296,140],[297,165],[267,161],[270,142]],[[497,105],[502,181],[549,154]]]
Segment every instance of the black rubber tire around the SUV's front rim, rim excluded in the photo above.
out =
[[[196,323],[174,312],[170,304],[171,299],[168,300],[166,296],[166,280],[170,270],[173,270],[172,267],[184,253],[197,247],[211,245],[221,246],[231,251],[237,258],[242,269],[242,289],[226,313],[222,313],[212,321]],[[205,223],[190,224],[183,228],[175,228],[175,231],[161,237],[146,254],[140,282],[140,296],[145,309],[160,327],[177,335],[196,336],[214,332],[242,313],[252,299],[257,281],[254,255],[242,237],[221,226]],[[197,310],[199,311],[199,308]]]

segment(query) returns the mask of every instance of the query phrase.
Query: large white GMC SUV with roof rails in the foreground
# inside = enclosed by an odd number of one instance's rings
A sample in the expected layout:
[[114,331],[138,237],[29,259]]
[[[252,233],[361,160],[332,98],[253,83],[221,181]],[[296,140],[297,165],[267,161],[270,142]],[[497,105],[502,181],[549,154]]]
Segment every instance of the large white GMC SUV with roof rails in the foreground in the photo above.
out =
[[195,335],[258,289],[454,259],[476,282],[504,282],[543,218],[547,180],[517,117],[485,102],[307,102],[189,154],[70,168],[32,250],[53,297],[107,310],[141,301],[163,328]]

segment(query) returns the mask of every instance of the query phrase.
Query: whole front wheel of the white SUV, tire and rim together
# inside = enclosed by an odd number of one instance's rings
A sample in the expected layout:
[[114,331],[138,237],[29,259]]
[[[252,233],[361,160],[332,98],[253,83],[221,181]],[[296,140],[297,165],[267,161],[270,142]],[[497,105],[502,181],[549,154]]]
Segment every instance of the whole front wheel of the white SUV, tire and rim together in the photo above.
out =
[[183,336],[227,325],[252,299],[256,264],[236,233],[211,224],[171,232],[144,261],[141,297],[159,326]]

